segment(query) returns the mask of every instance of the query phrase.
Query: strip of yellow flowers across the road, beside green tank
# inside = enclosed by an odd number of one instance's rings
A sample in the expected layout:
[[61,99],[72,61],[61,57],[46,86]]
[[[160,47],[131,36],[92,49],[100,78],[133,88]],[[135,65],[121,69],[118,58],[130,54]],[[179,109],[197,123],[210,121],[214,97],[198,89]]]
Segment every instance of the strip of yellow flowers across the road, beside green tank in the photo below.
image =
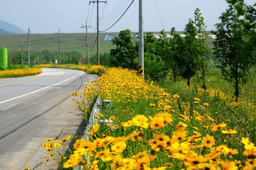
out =
[[25,77],[40,74],[42,68],[23,68],[0,71],[0,78]]

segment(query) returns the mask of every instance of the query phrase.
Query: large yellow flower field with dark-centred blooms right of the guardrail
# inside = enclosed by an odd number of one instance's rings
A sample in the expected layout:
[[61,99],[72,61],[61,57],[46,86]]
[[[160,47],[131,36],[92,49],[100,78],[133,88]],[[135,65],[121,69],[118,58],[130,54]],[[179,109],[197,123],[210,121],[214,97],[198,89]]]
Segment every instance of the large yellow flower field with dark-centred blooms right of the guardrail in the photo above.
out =
[[[71,136],[47,138],[44,148],[64,169],[255,169],[255,105],[218,89],[180,87],[161,88],[135,71],[108,68],[81,94],[71,94],[82,114],[90,114],[85,102],[93,96],[111,100],[95,115],[90,140],[74,136],[70,156],[59,154],[58,147]],[[113,124],[99,124],[104,119]]]

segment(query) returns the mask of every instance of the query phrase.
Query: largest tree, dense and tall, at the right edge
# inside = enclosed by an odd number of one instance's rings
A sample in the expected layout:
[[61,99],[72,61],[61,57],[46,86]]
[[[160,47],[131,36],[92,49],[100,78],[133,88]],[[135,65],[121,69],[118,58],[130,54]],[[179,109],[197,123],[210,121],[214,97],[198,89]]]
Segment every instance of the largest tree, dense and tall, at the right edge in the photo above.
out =
[[213,31],[213,49],[221,74],[233,85],[238,99],[241,86],[247,83],[251,67],[256,64],[256,3],[248,6],[244,0],[226,2],[229,8],[221,14],[221,23],[216,23]]

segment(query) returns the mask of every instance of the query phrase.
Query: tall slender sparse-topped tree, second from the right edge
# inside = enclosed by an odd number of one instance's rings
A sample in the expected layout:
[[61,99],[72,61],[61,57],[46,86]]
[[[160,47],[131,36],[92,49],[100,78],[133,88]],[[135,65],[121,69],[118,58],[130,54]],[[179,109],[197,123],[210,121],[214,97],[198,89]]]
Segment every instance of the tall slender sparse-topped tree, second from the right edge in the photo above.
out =
[[198,70],[201,74],[201,76],[198,76],[198,82],[200,85],[200,80],[202,80],[203,85],[201,85],[202,89],[207,90],[207,87],[205,85],[205,79],[207,72],[209,71],[208,69],[208,64],[209,64],[209,48],[208,48],[208,42],[207,42],[207,36],[208,34],[206,33],[206,27],[204,23],[204,17],[202,17],[200,13],[200,9],[196,8],[195,12],[195,19],[194,19],[194,24],[197,32],[197,40],[198,40],[198,45],[199,45],[199,61],[198,61]]

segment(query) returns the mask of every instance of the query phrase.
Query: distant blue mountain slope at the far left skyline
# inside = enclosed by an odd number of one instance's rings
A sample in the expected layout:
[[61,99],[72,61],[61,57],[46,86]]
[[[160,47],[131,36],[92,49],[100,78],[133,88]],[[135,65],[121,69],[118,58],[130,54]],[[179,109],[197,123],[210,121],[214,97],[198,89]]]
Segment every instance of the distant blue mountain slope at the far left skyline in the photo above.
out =
[[0,20],[0,34],[27,34],[27,32],[13,24]]

